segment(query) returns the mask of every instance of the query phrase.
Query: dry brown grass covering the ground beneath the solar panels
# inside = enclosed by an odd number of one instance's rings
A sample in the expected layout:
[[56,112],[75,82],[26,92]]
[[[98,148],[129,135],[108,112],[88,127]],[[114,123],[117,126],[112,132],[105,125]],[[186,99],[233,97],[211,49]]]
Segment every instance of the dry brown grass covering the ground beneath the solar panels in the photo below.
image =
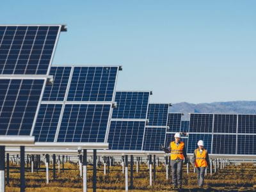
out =
[[[45,167],[42,166],[38,173],[31,173],[26,168],[26,191],[35,192],[73,192],[83,191],[83,180],[79,177],[77,164],[65,164],[65,172],[58,173],[56,170],[56,181],[52,181],[52,165],[50,166],[50,183],[45,182]],[[57,166],[56,166],[57,168]],[[108,168],[107,168],[108,170]],[[19,167],[10,166],[10,186],[6,191],[19,191]],[[169,176],[169,178],[171,175]],[[88,191],[92,191],[92,166],[88,166]],[[124,191],[125,177],[122,173],[122,166],[109,167],[109,173],[103,174],[103,166],[97,168],[97,191]],[[134,189],[132,191],[175,191],[171,186],[171,180],[166,180],[165,168],[163,165],[157,167],[156,182],[149,186],[149,170],[147,165],[141,164],[140,172],[136,173],[134,166]],[[177,191],[177,190],[176,190]],[[189,175],[184,167],[183,188],[179,191],[256,191],[256,166],[244,163],[239,166],[227,166],[218,170],[212,176],[208,173],[205,177],[204,189],[196,187],[196,174],[191,168]]]

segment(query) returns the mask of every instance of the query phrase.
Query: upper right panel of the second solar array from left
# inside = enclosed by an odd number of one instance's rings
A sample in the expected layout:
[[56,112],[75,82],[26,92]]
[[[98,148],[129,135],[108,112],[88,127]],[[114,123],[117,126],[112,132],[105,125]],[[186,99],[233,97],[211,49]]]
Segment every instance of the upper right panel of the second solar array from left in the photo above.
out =
[[112,101],[118,67],[74,67],[67,100]]

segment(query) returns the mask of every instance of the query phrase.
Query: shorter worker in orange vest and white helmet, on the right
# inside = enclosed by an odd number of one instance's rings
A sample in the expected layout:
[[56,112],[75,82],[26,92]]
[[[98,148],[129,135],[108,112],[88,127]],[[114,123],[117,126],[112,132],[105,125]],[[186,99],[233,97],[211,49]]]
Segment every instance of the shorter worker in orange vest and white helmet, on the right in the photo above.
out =
[[199,140],[198,148],[195,149],[192,163],[196,168],[197,184],[200,188],[204,185],[205,168],[210,166],[207,150],[204,148],[204,141]]

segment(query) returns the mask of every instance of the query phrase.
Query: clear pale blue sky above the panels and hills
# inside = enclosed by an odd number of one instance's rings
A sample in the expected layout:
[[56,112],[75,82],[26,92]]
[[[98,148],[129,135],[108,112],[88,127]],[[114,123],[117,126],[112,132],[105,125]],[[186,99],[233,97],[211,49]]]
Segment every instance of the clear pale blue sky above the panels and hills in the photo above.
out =
[[256,1],[2,1],[1,24],[67,24],[53,64],[122,65],[151,102],[255,100]]

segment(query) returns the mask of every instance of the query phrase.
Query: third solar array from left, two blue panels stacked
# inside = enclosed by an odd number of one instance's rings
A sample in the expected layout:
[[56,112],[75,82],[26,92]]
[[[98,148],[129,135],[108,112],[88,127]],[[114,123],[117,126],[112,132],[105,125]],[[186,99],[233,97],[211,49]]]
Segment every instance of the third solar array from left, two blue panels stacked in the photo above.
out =
[[111,150],[141,150],[151,92],[116,92],[108,134]]

